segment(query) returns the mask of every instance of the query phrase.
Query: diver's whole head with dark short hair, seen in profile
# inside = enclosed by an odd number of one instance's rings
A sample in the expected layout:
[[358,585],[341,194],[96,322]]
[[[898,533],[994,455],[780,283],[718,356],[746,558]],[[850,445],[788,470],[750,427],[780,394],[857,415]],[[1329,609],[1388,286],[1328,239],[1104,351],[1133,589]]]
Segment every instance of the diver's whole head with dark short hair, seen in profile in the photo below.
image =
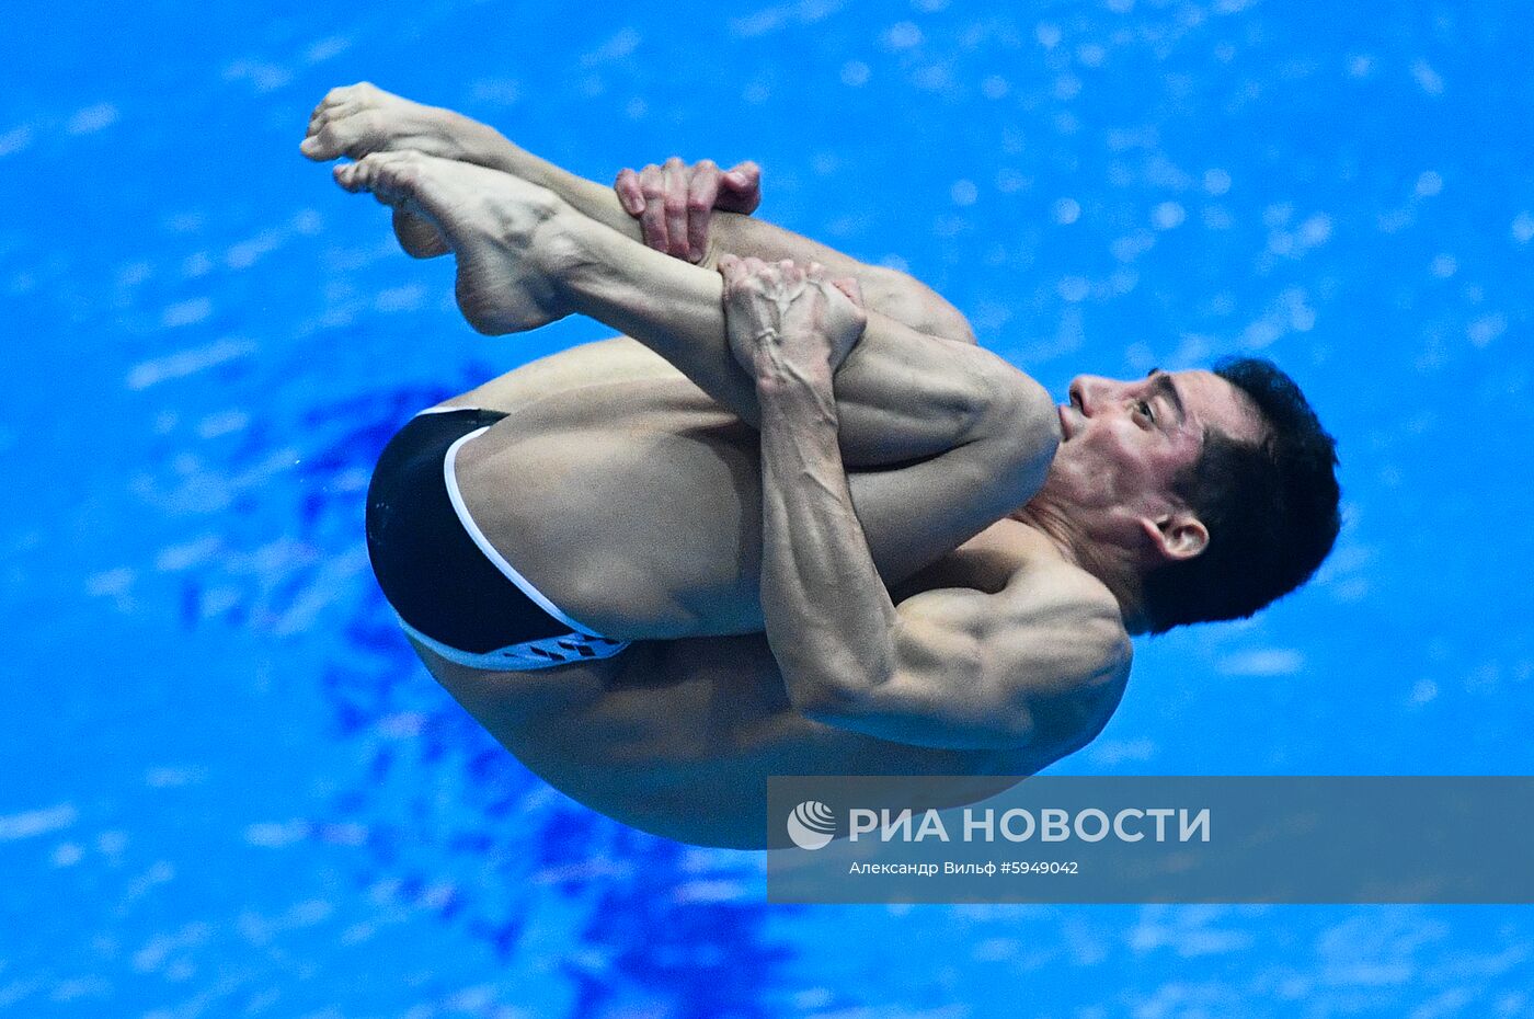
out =
[[1336,445],[1269,361],[1081,376],[1060,420],[1040,500],[1071,522],[1083,560],[1117,574],[1143,629],[1246,618],[1336,540]]

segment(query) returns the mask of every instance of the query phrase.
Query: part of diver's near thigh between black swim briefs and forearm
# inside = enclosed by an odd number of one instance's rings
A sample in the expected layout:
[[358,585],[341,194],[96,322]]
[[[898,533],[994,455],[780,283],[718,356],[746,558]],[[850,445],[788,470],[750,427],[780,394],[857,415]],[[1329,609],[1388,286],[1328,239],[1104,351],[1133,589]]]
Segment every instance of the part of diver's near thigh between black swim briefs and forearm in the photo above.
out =
[[548,396],[466,442],[463,508],[569,618],[618,640],[761,628],[756,436],[672,376]]

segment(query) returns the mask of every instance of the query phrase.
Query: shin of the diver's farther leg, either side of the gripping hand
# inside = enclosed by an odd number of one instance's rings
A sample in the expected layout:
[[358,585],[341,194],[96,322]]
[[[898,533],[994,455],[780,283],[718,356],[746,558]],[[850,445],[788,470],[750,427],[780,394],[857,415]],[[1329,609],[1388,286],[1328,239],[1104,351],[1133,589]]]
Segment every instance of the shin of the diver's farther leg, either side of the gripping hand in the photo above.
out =
[[[548,187],[581,215],[643,242],[640,221],[624,210],[611,187],[528,152],[494,127],[469,123],[472,127],[463,132],[462,140],[465,161]],[[833,276],[854,276],[871,310],[928,336],[974,342],[968,319],[931,287],[905,273],[859,262],[772,223],[733,212],[715,212],[709,229],[709,250],[700,264],[712,269],[723,253],[762,261],[821,262]]]

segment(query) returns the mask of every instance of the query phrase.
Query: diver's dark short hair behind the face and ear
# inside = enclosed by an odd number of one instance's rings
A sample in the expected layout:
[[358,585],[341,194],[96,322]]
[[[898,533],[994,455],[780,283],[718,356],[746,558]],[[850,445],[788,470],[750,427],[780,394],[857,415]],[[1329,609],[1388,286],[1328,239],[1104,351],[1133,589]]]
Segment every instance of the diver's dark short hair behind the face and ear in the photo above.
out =
[[1336,440],[1295,381],[1272,361],[1232,358],[1213,368],[1256,405],[1259,444],[1210,428],[1198,462],[1172,491],[1209,528],[1192,559],[1143,579],[1152,634],[1174,626],[1246,618],[1310,580],[1342,523]]

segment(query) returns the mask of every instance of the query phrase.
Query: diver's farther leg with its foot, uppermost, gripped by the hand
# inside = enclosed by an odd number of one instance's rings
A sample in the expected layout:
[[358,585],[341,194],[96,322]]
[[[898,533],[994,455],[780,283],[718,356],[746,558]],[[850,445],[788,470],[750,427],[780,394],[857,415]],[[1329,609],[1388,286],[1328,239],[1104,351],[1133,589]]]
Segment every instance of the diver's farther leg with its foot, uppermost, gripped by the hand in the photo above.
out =
[[[643,239],[640,224],[618,203],[611,187],[577,176],[526,149],[512,144],[494,127],[462,114],[422,106],[384,92],[371,84],[331,89],[314,109],[301,150],[311,160],[347,155],[362,158],[373,152],[417,150],[460,163],[500,170],[548,187],[577,212],[630,239]],[[396,210],[394,232],[400,246],[417,258],[445,255],[446,242],[420,218]],[[931,287],[911,276],[865,265],[834,249],[810,241],[762,219],[716,213],[703,265],[729,252],[765,261],[793,259],[821,262],[833,276],[854,276],[867,307],[894,318],[930,336],[974,342],[969,322]]]

